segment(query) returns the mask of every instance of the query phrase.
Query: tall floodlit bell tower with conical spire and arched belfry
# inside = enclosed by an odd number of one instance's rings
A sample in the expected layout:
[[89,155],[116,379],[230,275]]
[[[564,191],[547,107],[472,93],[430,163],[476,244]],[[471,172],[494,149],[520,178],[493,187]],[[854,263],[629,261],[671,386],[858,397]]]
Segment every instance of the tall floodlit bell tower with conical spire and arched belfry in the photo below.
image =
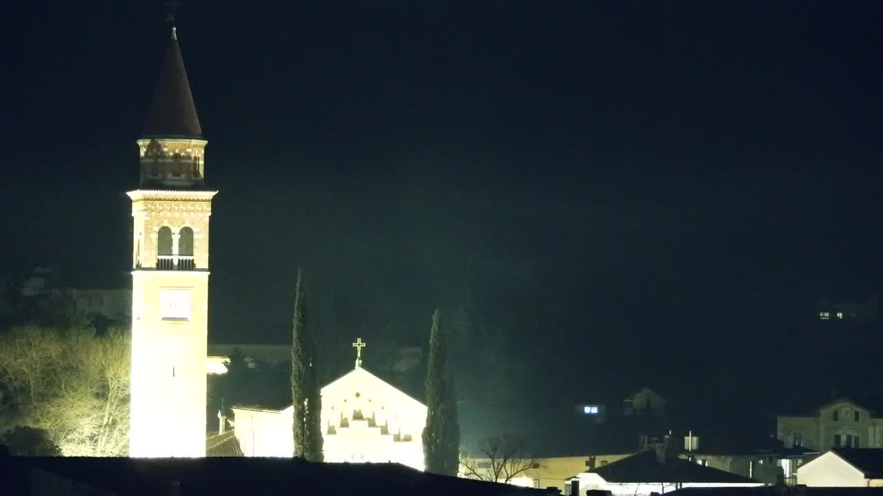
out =
[[171,40],[141,139],[132,199],[132,457],[206,454],[208,217],[200,120]]

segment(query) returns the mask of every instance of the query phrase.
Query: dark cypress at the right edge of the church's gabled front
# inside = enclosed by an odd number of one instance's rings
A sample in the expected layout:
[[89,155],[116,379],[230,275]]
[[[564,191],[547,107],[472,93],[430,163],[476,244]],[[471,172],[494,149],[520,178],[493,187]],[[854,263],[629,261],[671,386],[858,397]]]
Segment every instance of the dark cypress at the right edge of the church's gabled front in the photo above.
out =
[[440,325],[438,309],[433,312],[426,362],[426,427],[423,455],[426,471],[457,476],[460,426],[457,424],[457,395],[449,357],[448,336]]

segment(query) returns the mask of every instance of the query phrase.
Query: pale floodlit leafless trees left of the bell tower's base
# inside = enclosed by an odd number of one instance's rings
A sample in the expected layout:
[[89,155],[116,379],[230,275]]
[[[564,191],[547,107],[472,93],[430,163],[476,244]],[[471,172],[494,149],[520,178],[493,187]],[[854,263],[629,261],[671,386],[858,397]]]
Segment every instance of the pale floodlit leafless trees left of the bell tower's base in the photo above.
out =
[[129,333],[19,327],[0,337],[9,428],[44,429],[63,455],[128,453]]

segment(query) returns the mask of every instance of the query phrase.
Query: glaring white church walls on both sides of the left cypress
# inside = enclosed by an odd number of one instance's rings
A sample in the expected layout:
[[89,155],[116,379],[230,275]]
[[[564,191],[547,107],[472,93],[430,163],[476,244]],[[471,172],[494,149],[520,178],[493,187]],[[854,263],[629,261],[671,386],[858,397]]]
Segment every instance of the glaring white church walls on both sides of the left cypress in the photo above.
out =
[[[421,434],[426,405],[405,395],[360,364],[321,389],[326,462],[396,462],[424,470]],[[293,407],[236,405],[233,427],[245,456],[294,453]]]

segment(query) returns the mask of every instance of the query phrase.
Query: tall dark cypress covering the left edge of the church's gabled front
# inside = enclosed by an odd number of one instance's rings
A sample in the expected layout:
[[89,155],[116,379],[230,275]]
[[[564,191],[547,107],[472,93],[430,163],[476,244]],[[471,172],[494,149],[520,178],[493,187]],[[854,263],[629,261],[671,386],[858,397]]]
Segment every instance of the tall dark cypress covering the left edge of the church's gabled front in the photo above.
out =
[[291,331],[291,402],[294,405],[294,455],[322,461],[321,395],[316,373],[313,337],[306,326],[306,289],[298,268]]

